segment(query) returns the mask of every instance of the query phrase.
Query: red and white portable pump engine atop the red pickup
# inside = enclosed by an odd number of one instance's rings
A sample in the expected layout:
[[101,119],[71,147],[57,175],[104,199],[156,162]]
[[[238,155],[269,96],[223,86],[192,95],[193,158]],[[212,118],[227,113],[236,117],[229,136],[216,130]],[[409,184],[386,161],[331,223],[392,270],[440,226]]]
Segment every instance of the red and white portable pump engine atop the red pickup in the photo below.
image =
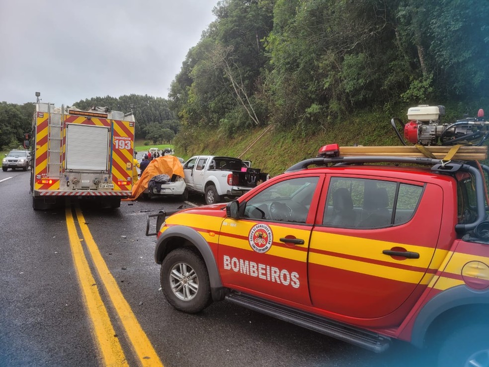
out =
[[397,117],[391,120],[391,124],[403,145],[407,145],[406,140],[421,145],[482,145],[489,137],[489,121],[486,121],[482,108],[477,117],[465,117],[451,124],[440,121],[444,114],[444,106],[419,105],[407,110],[409,121],[406,124]]

